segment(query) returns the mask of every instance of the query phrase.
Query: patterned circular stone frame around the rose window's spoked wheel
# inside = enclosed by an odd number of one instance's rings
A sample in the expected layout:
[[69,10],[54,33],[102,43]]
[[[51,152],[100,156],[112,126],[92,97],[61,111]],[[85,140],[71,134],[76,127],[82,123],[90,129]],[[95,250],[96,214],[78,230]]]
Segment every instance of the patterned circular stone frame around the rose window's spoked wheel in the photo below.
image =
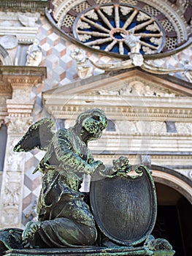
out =
[[[107,52],[104,50],[98,50],[98,49],[92,48],[88,45],[85,45],[84,43],[78,41],[77,39],[75,39],[73,37],[72,31],[71,31],[71,33],[69,33],[69,31],[64,31],[63,29],[61,29],[61,23],[64,21],[64,17],[66,17],[66,15],[71,11],[75,12],[74,11],[75,7],[78,7],[79,4],[83,4],[84,2],[85,1],[83,1],[83,0],[82,1],[69,0],[66,2],[66,4],[62,3],[62,4],[58,5],[57,7],[55,7],[55,11],[53,11],[54,8],[52,8],[52,10],[46,10],[45,15],[46,15],[47,19],[50,21],[50,23],[53,25],[53,28],[55,29],[55,31],[57,31],[61,35],[61,37],[64,37],[64,39],[68,39],[70,42],[74,43],[78,47],[84,48],[85,50],[89,50],[91,52],[98,53],[98,54],[105,55],[105,56],[115,57],[118,59],[128,59],[129,57],[126,55],[120,55],[119,53],[111,53],[111,52]],[[140,3],[140,1],[139,1],[139,3]],[[104,2],[104,4],[106,4],[106,3]],[[114,4],[114,3],[110,3],[110,4]],[[117,4],[121,4],[120,1]],[[170,6],[169,5],[170,3],[167,4],[167,1],[165,1],[163,4],[162,2],[155,1],[155,0],[150,0],[150,1],[143,0],[142,4],[145,4],[148,7],[151,7],[152,9],[161,10],[162,15],[165,15],[167,13],[166,20],[169,20],[172,23],[174,30],[176,27],[178,28],[178,23],[179,23],[180,27],[177,29],[177,33],[180,33],[180,35],[179,36],[177,35],[177,40],[182,39],[182,42],[177,42],[177,45],[175,46],[174,49],[166,50],[161,53],[145,54],[144,55],[145,59],[159,59],[159,58],[164,58],[166,56],[171,56],[171,55],[187,48],[189,45],[191,45],[192,35],[189,33],[189,31],[191,31],[191,29],[190,29],[191,26],[190,26],[190,24],[186,23],[186,20],[183,18],[183,12],[184,12],[183,10],[182,11],[179,10],[179,12],[177,12],[177,10],[178,10],[177,7],[173,6],[174,4],[172,4],[172,6]],[[96,4],[96,5],[101,6],[101,4]],[[131,4],[129,4],[129,5],[131,5]],[[132,5],[132,6],[139,8],[134,5]],[[88,8],[85,10],[88,10]],[[142,12],[144,12],[144,11],[145,10],[142,10]],[[55,13],[55,16],[54,16],[54,13]],[[77,18],[77,15],[75,18]],[[177,24],[174,24],[175,20],[177,20]],[[67,29],[70,30],[70,28],[67,28]],[[175,31],[175,33],[176,33],[176,31]]]

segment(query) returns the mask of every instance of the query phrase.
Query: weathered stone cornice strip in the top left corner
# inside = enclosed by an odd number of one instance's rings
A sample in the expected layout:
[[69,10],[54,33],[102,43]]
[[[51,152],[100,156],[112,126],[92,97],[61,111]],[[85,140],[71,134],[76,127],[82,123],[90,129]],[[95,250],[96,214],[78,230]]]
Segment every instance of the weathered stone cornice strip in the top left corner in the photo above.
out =
[[45,9],[49,6],[48,0],[0,0],[0,10],[9,12],[40,12],[45,15]]

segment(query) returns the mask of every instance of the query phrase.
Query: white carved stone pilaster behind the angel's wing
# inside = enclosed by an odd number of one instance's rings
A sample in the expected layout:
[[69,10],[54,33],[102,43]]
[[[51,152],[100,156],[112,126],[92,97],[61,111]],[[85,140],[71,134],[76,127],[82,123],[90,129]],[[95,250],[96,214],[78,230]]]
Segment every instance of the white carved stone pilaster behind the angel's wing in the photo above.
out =
[[25,154],[17,154],[12,148],[23,136],[31,117],[7,117],[7,148],[1,184],[0,227],[20,227],[23,201]]

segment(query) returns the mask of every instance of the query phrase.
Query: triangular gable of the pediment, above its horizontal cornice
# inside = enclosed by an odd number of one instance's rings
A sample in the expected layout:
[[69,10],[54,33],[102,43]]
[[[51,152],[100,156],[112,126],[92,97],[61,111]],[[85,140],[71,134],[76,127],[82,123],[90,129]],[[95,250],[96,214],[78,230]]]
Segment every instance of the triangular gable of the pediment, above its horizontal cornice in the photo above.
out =
[[192,86],[191,83],[171,75],[153,75],[136,67],[77,80],[44,92],[44,96],[48,94],[190,97]]

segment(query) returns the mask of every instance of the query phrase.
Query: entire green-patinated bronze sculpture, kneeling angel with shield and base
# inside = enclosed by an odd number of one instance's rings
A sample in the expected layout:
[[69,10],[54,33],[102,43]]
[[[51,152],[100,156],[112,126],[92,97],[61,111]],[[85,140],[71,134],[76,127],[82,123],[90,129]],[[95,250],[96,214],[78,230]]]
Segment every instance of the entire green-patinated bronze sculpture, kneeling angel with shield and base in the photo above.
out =
[[[131,165],[127,157],[106,167],[88,149],[88,142],[99,139],[107,127],[103,110],[81,113],[69,129],[53,132],[53,124],[50,118],[32,124],[14,148],[18,152],[46,151],[34,170],[43,174],[38,221],[28,222],[24,230],[0,230],[0,255],[158,255],[159,250],[162,255],[164,249],[166,255],[173,255],[166,240],[150,238],[156,197],[147,168],[140,165],[137,176],[128,176]],[[79,191],[84,174],[92,176],[93,214]],[[117,243],[118,249],[117,244],[107,249],[100,235]],[[142,247],[129,247],[142,241]]]

